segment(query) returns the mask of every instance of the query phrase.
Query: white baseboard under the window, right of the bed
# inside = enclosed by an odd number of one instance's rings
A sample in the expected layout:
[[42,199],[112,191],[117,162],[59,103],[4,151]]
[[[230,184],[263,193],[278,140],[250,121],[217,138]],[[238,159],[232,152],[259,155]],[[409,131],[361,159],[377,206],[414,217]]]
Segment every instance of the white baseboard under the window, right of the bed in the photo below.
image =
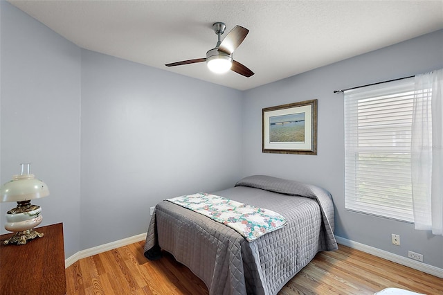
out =
[[388,251],[380,250],[374,247],[370,247],[365,244],[361,244],[359,242],[354,242],[352,240],[347,240],[345,238],[341,238],[335,236],[338,244],[343,244],[352,249],[360,250],[365,253],[370,253],[373,256],[377,256],[380,258],[384,258],[386,260],[390,260],[392,262],[396,262],[399,265],[405,265],[406,267],[410,267],[413,269],[417,269],[419,271],[426,272],[426,274],[432,274],[433,276],[437,276],[439,278],[443,278],[443,269],[438,267],[434,267],[433,265],[426,265],[426,263],[411,260],[410,258],[406,258],[403,256],[399,256],[397,254],[390,253]]

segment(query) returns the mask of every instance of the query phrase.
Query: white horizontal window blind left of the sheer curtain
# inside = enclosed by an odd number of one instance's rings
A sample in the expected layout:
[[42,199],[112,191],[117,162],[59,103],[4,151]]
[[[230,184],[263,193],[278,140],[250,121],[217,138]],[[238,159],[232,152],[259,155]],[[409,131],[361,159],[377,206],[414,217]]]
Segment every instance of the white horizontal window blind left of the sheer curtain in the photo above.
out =
[[345,208],[413,222],[414,79],[345,91]]

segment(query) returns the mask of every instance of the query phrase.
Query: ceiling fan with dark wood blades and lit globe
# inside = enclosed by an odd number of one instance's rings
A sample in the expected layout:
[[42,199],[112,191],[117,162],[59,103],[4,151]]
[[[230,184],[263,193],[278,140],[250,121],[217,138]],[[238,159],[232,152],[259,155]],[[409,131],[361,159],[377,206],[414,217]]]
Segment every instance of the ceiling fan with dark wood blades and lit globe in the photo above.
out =
[[181,66],[183,64],[195,64],[197,62],[206,62],[208,68],[215,73],[226,73],[227,71],[235,71],[240,75],[244,75],[249,78],[253,75],[253,71],[248,69],[243,64],[235,61],[233,58],[233,53],[240,44],[242,44],[246,35],[248,35],[249,30],[243,28],[242,26],[235,26],[228,35],[220,40],[221,35],[223,35],[226,29],[226,24],[217,21],[213,24],[213,29],[215,34],[218,36],[217,45],[215,48],[210,49],[206,53],[206,58],[197,58],[195,60],[183,60],[181,62],[172,62],[171,64],[165,64],[165,66]]

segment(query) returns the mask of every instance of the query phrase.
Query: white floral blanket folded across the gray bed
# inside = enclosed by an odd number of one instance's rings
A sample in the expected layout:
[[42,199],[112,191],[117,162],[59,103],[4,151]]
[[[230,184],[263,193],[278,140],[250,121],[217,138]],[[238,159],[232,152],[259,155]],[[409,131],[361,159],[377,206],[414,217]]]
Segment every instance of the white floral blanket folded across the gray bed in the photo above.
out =
[[183,195],[167,201],[205,215],[237,231],[248,242],[282,228],[287,220],[274,211],[208,193]]

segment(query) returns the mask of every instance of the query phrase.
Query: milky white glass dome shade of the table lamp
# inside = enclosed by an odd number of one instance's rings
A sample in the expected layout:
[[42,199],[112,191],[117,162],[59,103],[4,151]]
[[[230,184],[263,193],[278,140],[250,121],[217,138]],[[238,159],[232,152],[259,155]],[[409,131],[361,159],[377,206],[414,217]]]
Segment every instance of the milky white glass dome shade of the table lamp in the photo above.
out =
[[0,188],[0,202],[21,202],[49,195],[48,186],[33,174],[14,175],[13,179]]

